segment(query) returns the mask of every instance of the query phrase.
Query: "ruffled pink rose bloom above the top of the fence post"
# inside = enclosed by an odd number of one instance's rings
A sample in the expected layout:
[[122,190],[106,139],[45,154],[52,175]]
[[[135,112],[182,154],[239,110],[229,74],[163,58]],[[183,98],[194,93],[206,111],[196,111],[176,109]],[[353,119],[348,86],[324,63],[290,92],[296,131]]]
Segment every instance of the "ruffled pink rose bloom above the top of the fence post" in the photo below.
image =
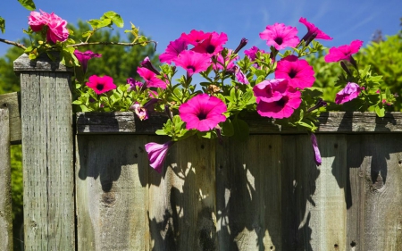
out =
[[45,13],[40,10],[38,12],[31,12],[28,18],[30,29],[35,32],[42,30],[45,26],[48,27],[46,31],[47,41],[56,43],[57,41],[63,42],[69,38],[69,30],[67,29],[67,21],[61,19],[54,13]]

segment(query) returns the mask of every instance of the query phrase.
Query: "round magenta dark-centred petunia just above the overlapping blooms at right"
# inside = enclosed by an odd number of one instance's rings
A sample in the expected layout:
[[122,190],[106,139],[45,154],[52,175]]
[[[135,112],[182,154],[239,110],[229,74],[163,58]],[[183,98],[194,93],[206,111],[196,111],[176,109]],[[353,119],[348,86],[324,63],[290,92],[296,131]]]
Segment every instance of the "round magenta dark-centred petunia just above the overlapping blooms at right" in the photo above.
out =
[[300,89],[312,87],[315,81],[313,66],[296,55],[288,55],[278,62],[275,78],[289,79],[290,86]]

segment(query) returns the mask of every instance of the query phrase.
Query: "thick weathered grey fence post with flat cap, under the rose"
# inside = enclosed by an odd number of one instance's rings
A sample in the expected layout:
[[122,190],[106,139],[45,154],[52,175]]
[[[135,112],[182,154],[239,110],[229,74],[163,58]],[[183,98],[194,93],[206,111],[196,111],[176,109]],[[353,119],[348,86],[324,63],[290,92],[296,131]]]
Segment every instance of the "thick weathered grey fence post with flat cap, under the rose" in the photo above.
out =
[[14,71],[21,76],[25,249],[75,250],[71,69],[23,54]]

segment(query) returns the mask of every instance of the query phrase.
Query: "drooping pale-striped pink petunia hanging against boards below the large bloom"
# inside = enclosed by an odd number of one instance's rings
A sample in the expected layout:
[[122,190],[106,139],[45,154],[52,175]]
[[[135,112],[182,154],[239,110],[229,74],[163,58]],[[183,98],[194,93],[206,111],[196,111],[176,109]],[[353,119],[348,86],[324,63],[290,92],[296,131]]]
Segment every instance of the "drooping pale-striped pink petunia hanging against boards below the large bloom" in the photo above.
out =
[[151,142],[145,145],[148,153],[149,165],[154,168],[156,172],[162,172],[164,160],[166,159],[169,147],[172,145],[173,141],[168,141],[164,144]]

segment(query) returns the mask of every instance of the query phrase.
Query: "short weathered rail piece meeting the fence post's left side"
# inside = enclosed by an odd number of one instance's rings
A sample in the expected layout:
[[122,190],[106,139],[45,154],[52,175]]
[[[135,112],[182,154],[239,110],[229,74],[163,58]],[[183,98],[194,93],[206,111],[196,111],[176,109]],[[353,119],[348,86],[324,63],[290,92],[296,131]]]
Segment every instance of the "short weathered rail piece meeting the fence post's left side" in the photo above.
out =
[[21,100],[20,93],[0,95],[0,107],[7,107],[10,118],[10,141],[12,145],[21,144]]

